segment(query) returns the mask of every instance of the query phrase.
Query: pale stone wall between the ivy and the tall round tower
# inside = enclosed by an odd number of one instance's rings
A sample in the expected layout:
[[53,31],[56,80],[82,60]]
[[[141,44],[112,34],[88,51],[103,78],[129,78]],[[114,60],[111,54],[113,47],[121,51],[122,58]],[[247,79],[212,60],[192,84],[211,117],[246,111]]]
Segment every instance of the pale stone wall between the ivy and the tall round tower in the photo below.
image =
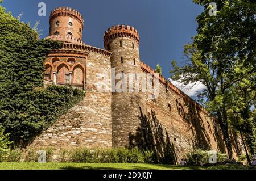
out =
[[[110,57],[90,52],[87,60],[87,89],[84,100],[61,116],[55,124],[31,144],[34,148],[54,146],[55,149],[87,146],[112,147],[111,93],[99,92],[97,73],[109,75]],[[109,85],[110,86],[110,85]]]

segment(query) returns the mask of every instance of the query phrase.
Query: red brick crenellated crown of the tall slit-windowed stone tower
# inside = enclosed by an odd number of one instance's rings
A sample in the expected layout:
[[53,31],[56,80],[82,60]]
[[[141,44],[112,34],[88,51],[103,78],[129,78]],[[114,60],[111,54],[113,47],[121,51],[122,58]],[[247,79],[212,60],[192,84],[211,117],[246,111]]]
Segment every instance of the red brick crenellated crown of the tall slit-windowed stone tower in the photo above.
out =
[[112,26],[104,33],[104,47],[106,48],[110,39],[113,39],[115,37],[130,37],[137,41],[139,44],[139,33],[138,31],[129,25],[117,25]]

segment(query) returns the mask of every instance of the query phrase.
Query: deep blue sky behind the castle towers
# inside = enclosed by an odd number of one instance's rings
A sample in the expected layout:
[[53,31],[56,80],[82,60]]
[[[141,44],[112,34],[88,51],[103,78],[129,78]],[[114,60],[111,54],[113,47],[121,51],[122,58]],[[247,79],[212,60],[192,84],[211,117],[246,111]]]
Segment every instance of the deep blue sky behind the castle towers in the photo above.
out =
[[[38,16],[38,3],[44,2],[46,16]],[[170,77],[171,60],[181,62],[183,45],[196,35],[196,16],[203,7],[192,0],[4,0],[3,5],[15,17],[23,12],[22,21],[40,21],[41,38],[48,36],[49,14],[59,6],[78,10],[84,20],[82,41],[104,48],[103,34],[116,24],[134,26],[140,35],[141,60],[155,69],[162,66],[163,75]]]

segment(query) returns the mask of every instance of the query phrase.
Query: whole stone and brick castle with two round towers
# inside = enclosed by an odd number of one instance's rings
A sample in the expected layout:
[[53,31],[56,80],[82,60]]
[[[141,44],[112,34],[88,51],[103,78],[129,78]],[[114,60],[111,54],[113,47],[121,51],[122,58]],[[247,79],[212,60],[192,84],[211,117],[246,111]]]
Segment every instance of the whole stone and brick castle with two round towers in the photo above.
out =
[[[139,146],[156,150],[160,157],[172,154],[175,158],[192,148],[226,151],[217,120],[141,61],[134,27],[109,28],[104,33],[105,49],[100,49],[81,41],[84,19],[76,10],[59,7],[51,12],[49,23],[46,39],[63,41],[63,45],[45,60],[44,85],[71,85],[84,90],[85,96],[31,146]],[[134,79],[150,73],[158,96],[150,98],[152,92],[143,92],[143,81],[134,91],[115,91],[117,74],[124,78],[129,73],[134,73]],[[122,82],[122,90],[129,81]],[[102,86],[107,91],[99,90]],[[237,137],[232,142],[239,143]]]

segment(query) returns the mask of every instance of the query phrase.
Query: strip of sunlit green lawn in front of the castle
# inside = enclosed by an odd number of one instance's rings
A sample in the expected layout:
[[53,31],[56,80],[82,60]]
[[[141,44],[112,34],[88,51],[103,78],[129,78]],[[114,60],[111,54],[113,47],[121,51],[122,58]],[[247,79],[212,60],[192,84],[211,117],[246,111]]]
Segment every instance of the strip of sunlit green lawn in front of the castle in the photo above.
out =
[[0,163],[0,170],[69,170],[69,169],[146,169],[146,170],[206,170],[206,169],[256,169],[245,165],[221,165],[211,167],[176,166],[139,163]]

